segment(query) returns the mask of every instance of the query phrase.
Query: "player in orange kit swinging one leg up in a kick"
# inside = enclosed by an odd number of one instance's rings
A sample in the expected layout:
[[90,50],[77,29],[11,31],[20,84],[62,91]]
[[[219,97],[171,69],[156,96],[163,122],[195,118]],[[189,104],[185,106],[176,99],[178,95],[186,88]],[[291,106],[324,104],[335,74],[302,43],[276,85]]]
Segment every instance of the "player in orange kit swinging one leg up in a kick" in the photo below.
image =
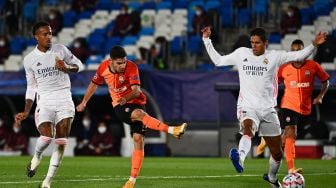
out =
[[99,65],[82,102],[76,109],[82,112],[97,87],[102,85],[105,80],[116,115],[122,122],[131,125],[134,142],[131,176],[123,187],[133,188],[144,159],[146,128],[167,132],[180,138],[184,134],[187,124],[168,126],[145,112],[146,96],[140,88],[138,68],[135,63],[127,60],[126,56],[127,54],[121,46],[114,46],[111,49],[110,59],[104,60]]

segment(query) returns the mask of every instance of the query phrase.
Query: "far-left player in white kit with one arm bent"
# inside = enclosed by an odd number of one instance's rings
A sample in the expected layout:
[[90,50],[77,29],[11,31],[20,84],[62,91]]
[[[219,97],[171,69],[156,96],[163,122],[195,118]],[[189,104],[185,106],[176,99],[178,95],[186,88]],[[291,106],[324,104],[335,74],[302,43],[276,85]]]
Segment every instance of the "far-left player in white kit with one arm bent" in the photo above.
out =
[[27,167],[27,176],[35,175],[42,152],[54,138],[56,147],[41,186],[49,188],[61,164],[75,115],[68,73],[83,70],[83,64],[64,45],[51,43],[52,33],[48,23],[36,23],[33,36],[37,46],[23,60],[27,79],[25,108],[15,116],[15,121],[21,123],[28,117],[36,97],[35,123],[40,137]]

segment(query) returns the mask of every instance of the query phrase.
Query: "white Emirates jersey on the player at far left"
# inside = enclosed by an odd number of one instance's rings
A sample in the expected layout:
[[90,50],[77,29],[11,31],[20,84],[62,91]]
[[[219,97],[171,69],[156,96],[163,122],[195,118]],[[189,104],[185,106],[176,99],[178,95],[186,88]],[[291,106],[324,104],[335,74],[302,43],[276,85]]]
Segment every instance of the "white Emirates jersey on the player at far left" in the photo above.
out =
[[47,52],[41,52],[36,47],[23,60],[27,78],[26,99],[34,101],[36,93],[38,101],[71,100],[69,75],[56,69],[56,58],[67,65],[76,64],[79,71],[83,70],[82,62],[64,45],[52,44]]

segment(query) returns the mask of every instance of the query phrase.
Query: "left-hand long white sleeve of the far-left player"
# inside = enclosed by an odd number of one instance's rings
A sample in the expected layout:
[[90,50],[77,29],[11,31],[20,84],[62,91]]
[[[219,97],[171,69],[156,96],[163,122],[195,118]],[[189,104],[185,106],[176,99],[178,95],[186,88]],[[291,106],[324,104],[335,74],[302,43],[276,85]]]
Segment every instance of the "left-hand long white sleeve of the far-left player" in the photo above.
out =
[[26,99],[30,99],[32,101],[35,100],[35,95],[37,91],[37,82],[34,76],[33,70],[28,66],[26,62],[27,59],[24,60],[24,69],[26,72],[26,80],[27,80],[27,90],[26,90]]

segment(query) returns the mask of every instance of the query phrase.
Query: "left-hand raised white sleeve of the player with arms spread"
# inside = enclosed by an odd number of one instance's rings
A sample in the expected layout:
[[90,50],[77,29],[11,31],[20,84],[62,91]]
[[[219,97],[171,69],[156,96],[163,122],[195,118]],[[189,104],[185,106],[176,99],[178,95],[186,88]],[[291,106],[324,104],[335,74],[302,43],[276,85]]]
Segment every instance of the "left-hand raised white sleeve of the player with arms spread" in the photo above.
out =
[[237,60],[237,50],[227,55],[220,55],[214,48],[212,42],[208,38],[203,38],[203,43],[206,51],[208,52],[210,59],[216,66],[235,65]]

